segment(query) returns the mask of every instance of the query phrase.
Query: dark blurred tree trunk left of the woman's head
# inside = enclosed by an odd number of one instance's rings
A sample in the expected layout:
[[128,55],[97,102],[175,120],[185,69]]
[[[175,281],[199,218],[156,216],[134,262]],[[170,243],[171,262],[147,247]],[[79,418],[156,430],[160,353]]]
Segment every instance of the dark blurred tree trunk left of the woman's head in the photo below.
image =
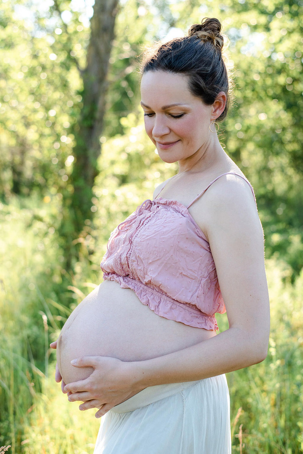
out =
[[[107,92],[108,60],[110,57],[118,0],[96,0],[91,19],[91,37],[87,51],[87,66],[80,70],[83,78],[83,109],[74,131],[76,145],[71,183],[74,192],[69,201],[69,216],[73,218],[73,237],[81,232],[86,219],[93,213],[92,188],[97,175],[97,159],[101,153],[99,138],[103,130],[105,96]],[[72,211],[72,212],[71,212]]]

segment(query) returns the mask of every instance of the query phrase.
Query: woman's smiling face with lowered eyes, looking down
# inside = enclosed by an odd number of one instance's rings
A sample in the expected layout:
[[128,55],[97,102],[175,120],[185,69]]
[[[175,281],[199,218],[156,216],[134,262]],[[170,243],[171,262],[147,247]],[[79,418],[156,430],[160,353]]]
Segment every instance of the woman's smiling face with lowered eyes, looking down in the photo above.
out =
[[[166,163],[203,154],[209,144],[213,105],[191,94],[188,77],[148,71],[141,82],[145,130]],[[214,134],[212,134],[214,136]]]

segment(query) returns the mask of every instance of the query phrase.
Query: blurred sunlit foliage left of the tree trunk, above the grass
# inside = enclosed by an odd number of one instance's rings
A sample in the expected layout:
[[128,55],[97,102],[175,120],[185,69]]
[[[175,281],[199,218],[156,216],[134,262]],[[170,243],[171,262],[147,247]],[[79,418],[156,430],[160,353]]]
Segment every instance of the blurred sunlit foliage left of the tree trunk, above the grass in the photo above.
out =
[[[12,191],[55,195],[72,189],[67,183],[73,146],[68,129],[81,107],[80,81],[68,63],[61,29],[38,33],[30,21],[15,19],[14,9],[25,5],[1,6],[0,195],[6,198]],[[82,40],[88,37],[82,34]]]

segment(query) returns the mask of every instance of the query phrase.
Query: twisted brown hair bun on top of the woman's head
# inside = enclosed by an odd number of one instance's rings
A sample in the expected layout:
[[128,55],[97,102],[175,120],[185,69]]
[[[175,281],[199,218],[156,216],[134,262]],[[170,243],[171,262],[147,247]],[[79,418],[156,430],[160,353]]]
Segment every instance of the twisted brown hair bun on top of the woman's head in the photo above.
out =
[[215,17],[205,17],[201,24],[191,25],[188,30],[188,36],[196,36],[201,41],[209,41],[214,44],[215,49],[220,51],[223,48],[223,36],[220,34],[222,25]]

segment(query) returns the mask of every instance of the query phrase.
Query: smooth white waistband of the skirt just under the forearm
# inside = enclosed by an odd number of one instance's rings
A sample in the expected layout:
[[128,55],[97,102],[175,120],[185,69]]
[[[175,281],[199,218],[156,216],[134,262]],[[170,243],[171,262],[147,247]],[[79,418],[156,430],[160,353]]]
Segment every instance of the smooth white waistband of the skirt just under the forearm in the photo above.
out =
[[166,397],[170,397],[171,395],[186,390],[200,381],[201,380],[149,386],[121,404],[112,407],[110,411],[113,411],[114,413],[127,413],[128,411],[137,410],[137,408],[145,407],[153,402],[157,402],[158,400],[165,399]]

